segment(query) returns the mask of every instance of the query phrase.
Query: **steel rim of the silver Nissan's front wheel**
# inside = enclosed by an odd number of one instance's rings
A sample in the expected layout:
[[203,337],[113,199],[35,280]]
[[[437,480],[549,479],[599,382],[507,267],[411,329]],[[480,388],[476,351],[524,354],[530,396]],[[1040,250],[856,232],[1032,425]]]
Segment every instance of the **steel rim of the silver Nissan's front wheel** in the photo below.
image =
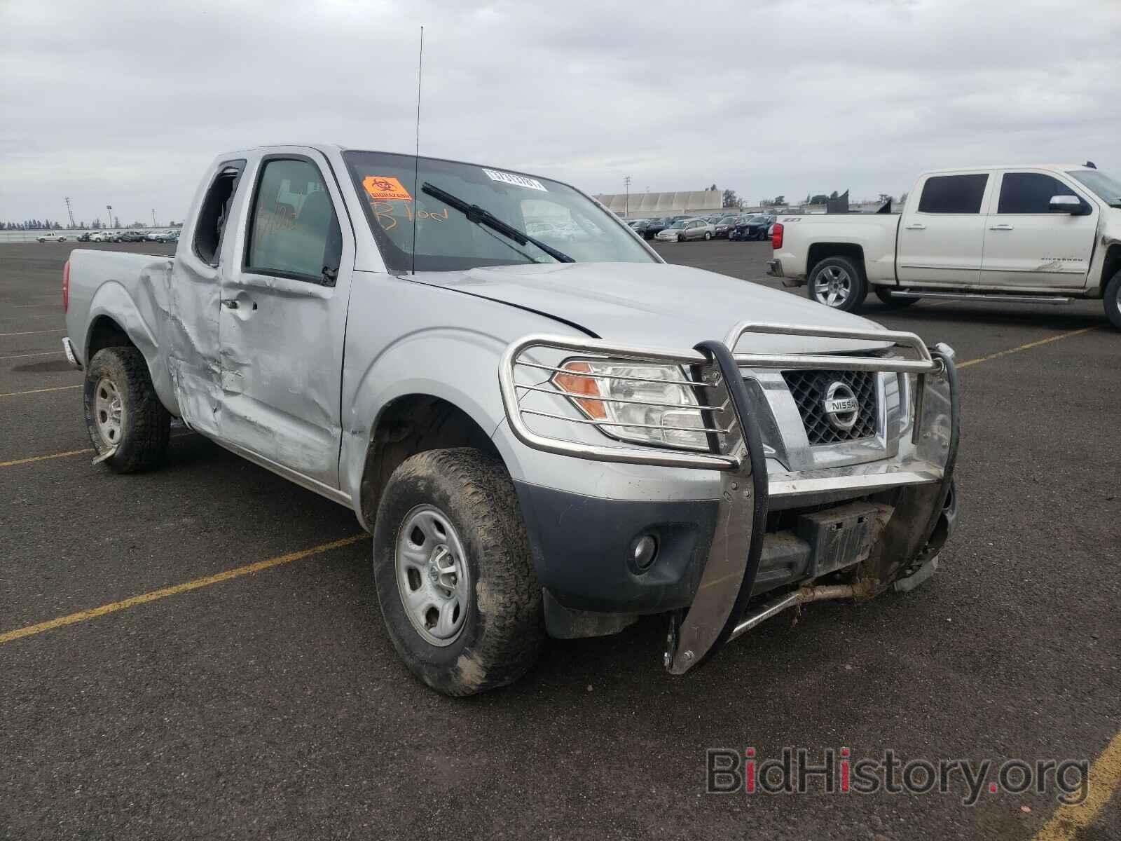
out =
[[429,645],[452,645],[471,603],[471,571],[452,521],[435,506],[417,506],[397,532],[396,552],[397,591],[413,628]]

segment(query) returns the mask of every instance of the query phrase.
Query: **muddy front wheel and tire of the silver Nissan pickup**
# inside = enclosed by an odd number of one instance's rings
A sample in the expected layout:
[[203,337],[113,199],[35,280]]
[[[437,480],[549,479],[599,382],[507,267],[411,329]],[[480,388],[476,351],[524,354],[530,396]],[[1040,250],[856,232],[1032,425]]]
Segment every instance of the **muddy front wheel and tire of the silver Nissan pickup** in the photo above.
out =
[[382,491],[373,576],[397,653],[445,695],[513,683],[545,639],[541,590],[513,483],[470,449],[405,460]]

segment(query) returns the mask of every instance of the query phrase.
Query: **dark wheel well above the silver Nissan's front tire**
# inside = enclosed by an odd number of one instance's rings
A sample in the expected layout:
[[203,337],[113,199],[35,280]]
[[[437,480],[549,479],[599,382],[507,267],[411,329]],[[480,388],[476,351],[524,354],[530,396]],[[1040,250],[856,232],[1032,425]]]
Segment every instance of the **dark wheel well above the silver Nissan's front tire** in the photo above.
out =
[[381,489],[411,455],[450,446],[472,446],[501,461],[494,442],[458,406],[430,395],[406,395],[379,415],[365,452],[360,488],[362,519],[372,527]]

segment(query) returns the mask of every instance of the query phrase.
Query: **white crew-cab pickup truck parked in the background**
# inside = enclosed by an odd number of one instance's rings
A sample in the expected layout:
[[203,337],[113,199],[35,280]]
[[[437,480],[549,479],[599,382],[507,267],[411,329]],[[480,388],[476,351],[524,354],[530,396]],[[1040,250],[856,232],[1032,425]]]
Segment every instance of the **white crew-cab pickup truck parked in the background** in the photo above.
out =
[[1121,182],[1092,164],[924,173],[901,214],[787,215],[769,272],[856,312],[869,289],[1004,303],[1101,298],[1121,330]]

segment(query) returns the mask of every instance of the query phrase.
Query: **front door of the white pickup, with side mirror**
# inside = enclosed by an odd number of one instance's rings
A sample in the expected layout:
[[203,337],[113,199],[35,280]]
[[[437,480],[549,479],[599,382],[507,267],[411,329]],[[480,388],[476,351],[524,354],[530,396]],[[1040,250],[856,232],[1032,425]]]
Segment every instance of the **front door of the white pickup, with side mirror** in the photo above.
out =
[[[1050,200],[1056,195],[1077,198],[1077,213],[1051,212]],[[1003,173],[1000,198],[990,207],[986,219],[981,283],[1083,288],[1097,231],[1097,213],[1096,204],[1049,173]]]

